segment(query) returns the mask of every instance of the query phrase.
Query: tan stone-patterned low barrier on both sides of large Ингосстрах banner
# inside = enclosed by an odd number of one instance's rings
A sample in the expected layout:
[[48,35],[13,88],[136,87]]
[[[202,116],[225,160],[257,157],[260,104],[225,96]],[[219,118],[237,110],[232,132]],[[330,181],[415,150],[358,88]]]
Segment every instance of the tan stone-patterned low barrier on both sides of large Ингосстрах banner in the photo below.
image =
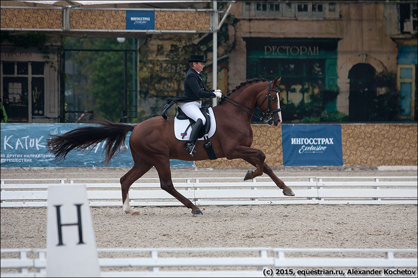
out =
[[[253,147],[270,166],[283,166],[282,126],[252,125]],[[343,165],[417,165],[417,124],[341,124]],[[196,161],[197,167],[252,167],[242,159]]]

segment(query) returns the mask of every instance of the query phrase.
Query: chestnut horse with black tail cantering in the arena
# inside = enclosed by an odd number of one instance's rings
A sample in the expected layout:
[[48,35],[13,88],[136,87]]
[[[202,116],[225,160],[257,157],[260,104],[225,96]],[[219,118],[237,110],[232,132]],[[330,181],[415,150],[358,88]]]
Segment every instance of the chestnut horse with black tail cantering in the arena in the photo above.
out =
[[[264,78],[246,80],[229,94],[223,95],[218,105],[212,109],[216,119],[216,131],[210,141],[217,158],[241,158],[256,167],[255,170],[248,170],[244,180],[266,173],[279,188],[283,189],[285,196],[294,196],[292,189],[285,185],[266,164],[266,155],[260,149],[251,147],[253,133],[250,123],[253,116],[263,119],[269,125],[277,126],[282,123],[278,90],[281,79],[275,77],[271,81]],[[261,116],[258,115],[260,113]],[[51,138],[47,139],[47,147],[48,151],[55,155],[55,161],[65,159],[73,149],[84,151],[106,140],[104,152],[107,164],[121,149],[126,148],[126,136],[128,132],[132,132],[129,146],[134,164],[120,179],[124,212],[130,215],[140,214],[129,204],[129,188],[154,166],[163,190],[190,208],[192,215],[203,214],[200,208],[174,188],[170,159],[207,160],[208,155],[205,152],[204,142],[198,140],[195,148],[197,154],[193,157],[189,156],[185,142],[175,138],[174,117],[165,119],[162,116],[155,116],[134,125],[114,123],[104,119],[92,120],[91,123],[99,126],[78,127],[63,135],[50,135]]]

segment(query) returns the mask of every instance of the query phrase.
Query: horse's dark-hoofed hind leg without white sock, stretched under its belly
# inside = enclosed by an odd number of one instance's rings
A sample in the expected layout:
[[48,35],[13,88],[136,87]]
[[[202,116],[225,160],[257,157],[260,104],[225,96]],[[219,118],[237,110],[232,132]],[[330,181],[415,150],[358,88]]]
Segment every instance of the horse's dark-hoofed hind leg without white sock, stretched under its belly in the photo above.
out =
[[167,191],[175,199],[182,202],[187,208],[192,210],[193,215],[203,215],[203,212],[195,206],[189,199],[181,195],[173,185],[171,180],[171,171],[170,171],[170,160],[167,157],[157,158],[158,165],[155,163],[155,168],[158,172],[158,177],[160,177],[161,188]]

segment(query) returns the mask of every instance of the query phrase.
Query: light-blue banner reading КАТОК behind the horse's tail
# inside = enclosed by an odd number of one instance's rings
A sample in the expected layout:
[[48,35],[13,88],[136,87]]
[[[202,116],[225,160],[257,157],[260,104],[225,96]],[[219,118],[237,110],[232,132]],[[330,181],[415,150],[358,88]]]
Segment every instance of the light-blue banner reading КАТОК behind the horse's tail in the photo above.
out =
[[[2,123],[2,167],[104,167],[105,141],[84,152],[71,151],[65,160],[54,162],[55,156],[46,147],[49,135],[62,135],[81,126],[91,124]],[[128,133],[126,150],[113,157],[109,167],[132,167]],[[88,153],[90,151],[90,153]],[[103,154],[103,155],[102,155]],[[170,160],[171,166],[193,166],[192,161]]]

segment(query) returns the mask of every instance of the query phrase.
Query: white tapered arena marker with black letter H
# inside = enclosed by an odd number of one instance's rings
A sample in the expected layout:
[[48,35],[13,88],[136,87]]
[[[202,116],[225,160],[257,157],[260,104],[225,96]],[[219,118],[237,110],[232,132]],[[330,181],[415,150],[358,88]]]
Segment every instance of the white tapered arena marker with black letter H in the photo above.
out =
[[48,187],[47,277],[99,277],[87,190],[84,184]]

